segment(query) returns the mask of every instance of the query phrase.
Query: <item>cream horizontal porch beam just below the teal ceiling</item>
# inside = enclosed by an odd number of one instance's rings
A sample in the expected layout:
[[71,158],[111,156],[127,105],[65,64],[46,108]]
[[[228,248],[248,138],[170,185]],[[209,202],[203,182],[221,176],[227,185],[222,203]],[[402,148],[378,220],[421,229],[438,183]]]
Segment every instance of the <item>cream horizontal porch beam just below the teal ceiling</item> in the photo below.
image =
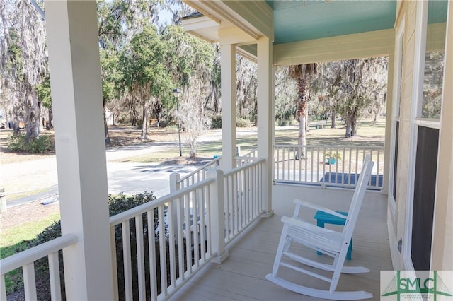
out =
[[309,64],[363,57],[379,57],[393,51],[395,30],[340,35],[274,45],[275,65]]

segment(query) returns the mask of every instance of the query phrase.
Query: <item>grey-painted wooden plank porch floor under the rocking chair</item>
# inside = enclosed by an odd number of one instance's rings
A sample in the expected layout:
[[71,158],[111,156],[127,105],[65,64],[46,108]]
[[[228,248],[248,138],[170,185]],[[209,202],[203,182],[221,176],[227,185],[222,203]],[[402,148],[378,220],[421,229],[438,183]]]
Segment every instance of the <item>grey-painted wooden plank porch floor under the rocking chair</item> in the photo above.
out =
[[[320,198],[318,203],[335,210],[348,208],[348,196],[352,196],[352,191],[328,190],[327,194],[337,197]],[[282,230],[280,218],[282,215],[292,215],[294,206],[292,199],[274,200],[273,208],[274,216],[260,218],[250,230],[229,244],[229,257],[222,264],[208,264],[171,300],[317,300],[280,288],[265,279],[266,274],[272,271],[277,251]],[[306,212],[305,217],[308,220],[313,218],[313,214]],[[392,269],[386,225],[386,196],[367,192],[353,242],[352,260],[346,264],[366,266],[371,271],[342,275],[338,290],[366,290],[374,295],[372,300],[379,300],[379,271]],[[303,252],[309,252],[310,256],[321,261],[330,258],[316,255],[311,249],[304,249]],[[302,285],[328,288],[328,283],[316,278],[290,270],[280,271],[280,276],[297,280]]]

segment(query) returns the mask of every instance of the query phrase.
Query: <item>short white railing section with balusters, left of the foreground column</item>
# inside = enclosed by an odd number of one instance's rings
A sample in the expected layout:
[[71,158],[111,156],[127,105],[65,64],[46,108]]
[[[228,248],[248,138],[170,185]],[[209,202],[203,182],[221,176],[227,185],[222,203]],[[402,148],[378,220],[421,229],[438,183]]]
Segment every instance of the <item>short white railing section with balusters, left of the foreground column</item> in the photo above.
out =
[[75,235],[64,235],[50,242],[1,259],[0,300],[6,300],[5,275],[16,268],[22,268],[25,300],[37,300],[34,261],[47,256],[49,260],[50,295],[52,300],[62,300],[58,253],[77,242]]

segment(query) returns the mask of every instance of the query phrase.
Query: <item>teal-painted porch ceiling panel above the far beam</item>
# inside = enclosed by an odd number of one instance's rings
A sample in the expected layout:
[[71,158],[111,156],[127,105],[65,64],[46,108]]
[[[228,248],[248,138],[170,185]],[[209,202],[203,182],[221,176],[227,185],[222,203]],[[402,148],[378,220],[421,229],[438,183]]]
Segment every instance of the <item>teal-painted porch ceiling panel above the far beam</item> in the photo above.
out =
[[275,44],[394,28],[396,0],[266,0]]

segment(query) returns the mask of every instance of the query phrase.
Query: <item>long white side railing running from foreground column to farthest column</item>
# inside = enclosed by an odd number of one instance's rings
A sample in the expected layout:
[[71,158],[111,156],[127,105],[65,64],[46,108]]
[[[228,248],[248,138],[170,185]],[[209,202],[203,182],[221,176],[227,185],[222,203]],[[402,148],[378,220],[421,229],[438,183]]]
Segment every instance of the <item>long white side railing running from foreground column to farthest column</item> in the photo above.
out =
[[[166,300],[260,216],[265,160],[205,179],[110,218],[115,298]],[[195,179],[198,179],[195,177]],[[124,288],[123,288],[124,287]]]

